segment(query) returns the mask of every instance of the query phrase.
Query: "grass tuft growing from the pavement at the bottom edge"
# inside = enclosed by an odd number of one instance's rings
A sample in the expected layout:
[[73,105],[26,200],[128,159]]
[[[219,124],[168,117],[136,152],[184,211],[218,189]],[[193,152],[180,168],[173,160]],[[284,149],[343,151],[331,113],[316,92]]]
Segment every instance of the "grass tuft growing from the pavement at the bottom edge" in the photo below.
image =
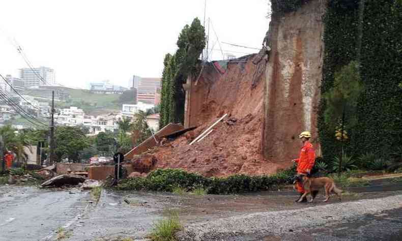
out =
[[153,241],[174,241],[176,240],[176,232],[180,231],[182,228],[179,215],[170,212],[167,218],[154,223],[154,228],[149,238]]

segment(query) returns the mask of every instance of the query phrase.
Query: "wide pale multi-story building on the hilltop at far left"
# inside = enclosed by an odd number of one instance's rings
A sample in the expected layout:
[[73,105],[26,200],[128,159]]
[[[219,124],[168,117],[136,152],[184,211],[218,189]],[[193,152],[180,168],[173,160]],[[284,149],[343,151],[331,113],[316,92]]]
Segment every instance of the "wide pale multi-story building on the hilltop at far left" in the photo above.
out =
[[24,82],[26,88],[38,88],[43,85],[55,85],[56,78],[54,70],[48,67],[22,68],[20,79]]

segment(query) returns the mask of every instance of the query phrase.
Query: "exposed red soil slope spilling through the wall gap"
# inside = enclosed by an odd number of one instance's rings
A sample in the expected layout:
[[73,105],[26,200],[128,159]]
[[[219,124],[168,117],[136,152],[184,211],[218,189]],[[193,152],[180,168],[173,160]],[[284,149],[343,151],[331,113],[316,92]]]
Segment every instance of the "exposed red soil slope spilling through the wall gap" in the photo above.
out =
[[[264,75],[251,89],[255,66],[253,56],[229,63],[225,74],[213,67],[191,91],[190,125],[198,128],[155,149],[156,168],[182,168],[205,176],[235,173],[262,175],[285,166],[262,155],[264,125]],[[193,145],[189,143],[218,117],[227,113],[212,133]]]

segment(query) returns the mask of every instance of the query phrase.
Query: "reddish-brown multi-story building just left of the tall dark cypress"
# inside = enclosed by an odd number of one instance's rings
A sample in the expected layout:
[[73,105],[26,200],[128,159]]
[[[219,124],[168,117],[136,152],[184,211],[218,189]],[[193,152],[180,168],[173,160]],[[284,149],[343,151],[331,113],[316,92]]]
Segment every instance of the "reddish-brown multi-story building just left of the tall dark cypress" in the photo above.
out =
[[130,80],[130,86],[137,89],[137,102],[154,105],[159,103],[156,97],[158,89],[161,88],[160,78],[142,78],[134,75]]

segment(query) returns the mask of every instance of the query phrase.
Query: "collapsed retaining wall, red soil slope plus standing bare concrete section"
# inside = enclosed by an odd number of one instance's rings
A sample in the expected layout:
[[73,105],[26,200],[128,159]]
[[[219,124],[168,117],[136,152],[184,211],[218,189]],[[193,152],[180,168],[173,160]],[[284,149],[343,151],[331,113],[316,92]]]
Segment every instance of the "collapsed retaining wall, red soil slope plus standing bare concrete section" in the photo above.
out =
[[[153,150],[154,168],[205,176],[271,174],[292,165],[300,132],[310,130],[316,142],[325,2],[311,0],[296,12],[272,16],[266,69],[266,60],[254,65],[261,57],[251,54],[214,62],[199,78],[189,78],[184,124],[198,128]],[[189,145],[223,114],[228,116],[209,136]]]

